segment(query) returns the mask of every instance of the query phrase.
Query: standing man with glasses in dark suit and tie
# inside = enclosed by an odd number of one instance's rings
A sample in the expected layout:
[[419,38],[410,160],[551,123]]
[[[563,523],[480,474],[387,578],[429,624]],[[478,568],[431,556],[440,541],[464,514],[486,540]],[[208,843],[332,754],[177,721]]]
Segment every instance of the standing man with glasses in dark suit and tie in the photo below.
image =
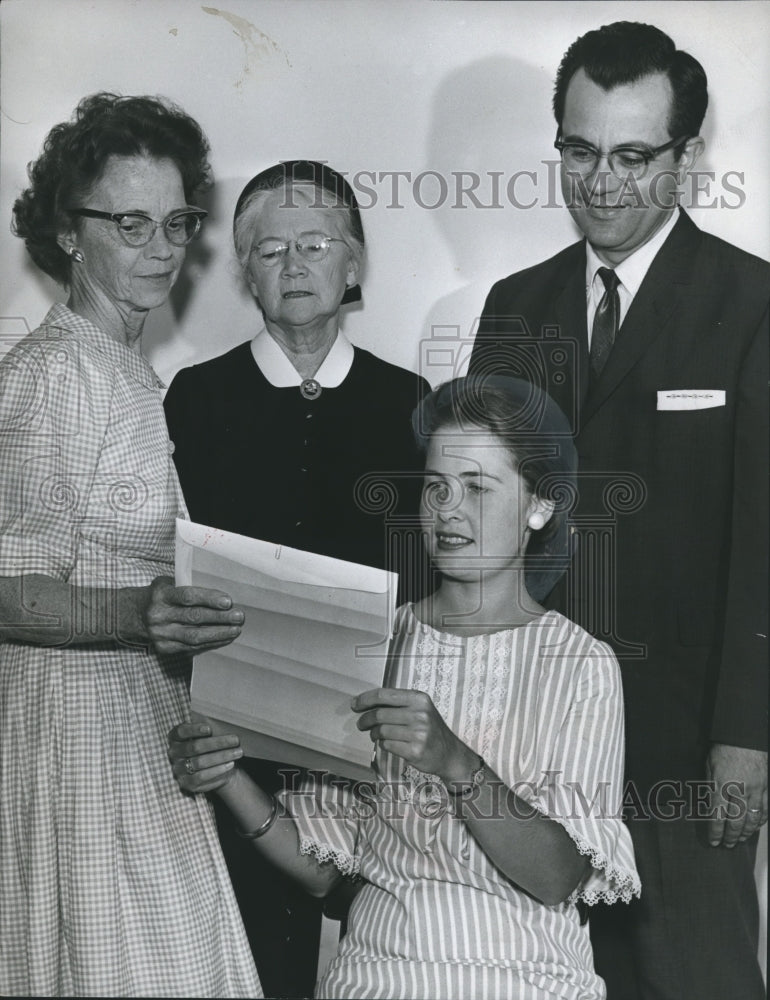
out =
[[629,907],[592,908],[609,1000],[765,995],[770,267],[677,207],[706,105],[700,64],[650,25],[570,47],[556,146],[585,239],[492,288],[470,363],[530,378],[574,424],[576,551],[552,603],[621,664],[642,878]]

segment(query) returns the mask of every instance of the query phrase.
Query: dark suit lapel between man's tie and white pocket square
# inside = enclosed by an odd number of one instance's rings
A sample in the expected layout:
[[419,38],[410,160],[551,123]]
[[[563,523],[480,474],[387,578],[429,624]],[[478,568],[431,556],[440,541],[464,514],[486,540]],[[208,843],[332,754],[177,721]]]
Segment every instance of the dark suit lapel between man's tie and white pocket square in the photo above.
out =
[[692,282],[691,262],[699,236],[698,228],[681,212],[634,296],[604,371],[585,397],[581,427],[612,395],[651,345],[671,328],[678,315],[682,290]]

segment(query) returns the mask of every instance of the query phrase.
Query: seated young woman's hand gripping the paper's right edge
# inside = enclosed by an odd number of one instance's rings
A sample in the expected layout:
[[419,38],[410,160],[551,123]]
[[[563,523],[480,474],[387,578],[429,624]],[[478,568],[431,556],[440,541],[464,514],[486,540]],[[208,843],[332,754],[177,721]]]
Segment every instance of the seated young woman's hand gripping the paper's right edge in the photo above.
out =
[[375,688],[354,698],[351,708],[361,713],[359,729],[418,771],[462,781],[477,764],[478,754],[455,736],[424,691]]

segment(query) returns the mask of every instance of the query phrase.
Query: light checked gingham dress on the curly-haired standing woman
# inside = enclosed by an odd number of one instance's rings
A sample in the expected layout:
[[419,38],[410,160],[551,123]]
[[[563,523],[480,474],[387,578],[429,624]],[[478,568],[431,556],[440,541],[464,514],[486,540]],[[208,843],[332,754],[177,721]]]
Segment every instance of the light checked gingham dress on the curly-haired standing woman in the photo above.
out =
[[[158,378],[65,306],[0,364],[0,468],[0,576],[173,575]],[[3,996],[261,996],[211,806],[167,758],[187,673],[120,643],[0,643]]]

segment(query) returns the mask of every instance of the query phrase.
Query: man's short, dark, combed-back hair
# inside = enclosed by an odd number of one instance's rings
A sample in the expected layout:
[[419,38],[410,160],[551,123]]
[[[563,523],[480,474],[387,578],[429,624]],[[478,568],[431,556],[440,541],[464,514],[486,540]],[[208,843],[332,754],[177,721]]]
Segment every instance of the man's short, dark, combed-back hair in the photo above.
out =
[[[556,74],[553,111],[561,128],[567,87],[584,69],[604,90],[635,83],[652,73],[665,73],[673,100],[667,122],[672,139],[700,133],[708,106],[706,74],[689,53],[681,52],[660,28],[634,21],[616,21],[581,35],[567,49]],[[677,150],[677,156],[681,150]]]

